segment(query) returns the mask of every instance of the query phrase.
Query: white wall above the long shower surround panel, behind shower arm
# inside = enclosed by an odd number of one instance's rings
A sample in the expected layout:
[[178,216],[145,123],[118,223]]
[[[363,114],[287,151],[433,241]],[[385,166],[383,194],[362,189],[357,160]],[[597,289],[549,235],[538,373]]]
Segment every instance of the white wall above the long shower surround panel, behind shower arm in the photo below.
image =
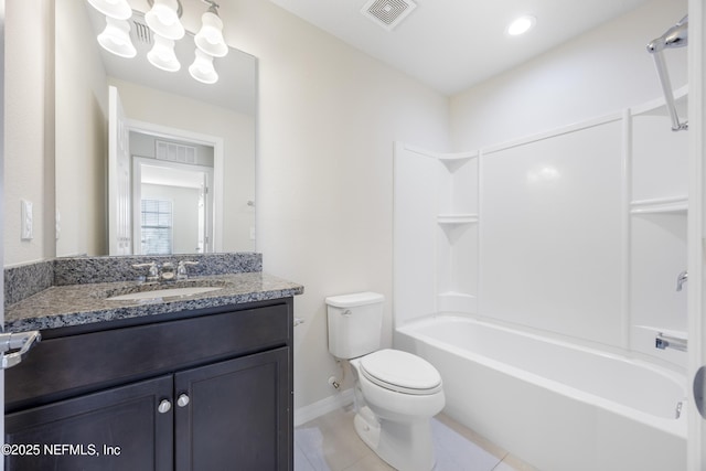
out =
[[[654,0],[451,97],[453,148],[480,149],[662,96],[645,45],[686,13],[686,0]],[[686,84],[686,47],[665,56],[674,88]]]

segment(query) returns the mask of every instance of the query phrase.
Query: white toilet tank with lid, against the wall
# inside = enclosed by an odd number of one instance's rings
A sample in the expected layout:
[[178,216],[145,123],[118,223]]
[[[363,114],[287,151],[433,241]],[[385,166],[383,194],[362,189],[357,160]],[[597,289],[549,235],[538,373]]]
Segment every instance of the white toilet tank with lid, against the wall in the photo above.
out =
[[356,358],[381,347],[383,301],[377,292],[327,298],[329,352],[336,358]]

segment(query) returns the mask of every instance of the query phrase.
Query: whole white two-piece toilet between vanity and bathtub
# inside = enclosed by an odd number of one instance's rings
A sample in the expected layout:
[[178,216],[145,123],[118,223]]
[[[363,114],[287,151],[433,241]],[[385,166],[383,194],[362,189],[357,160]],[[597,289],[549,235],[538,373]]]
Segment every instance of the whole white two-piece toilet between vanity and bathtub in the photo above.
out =
[[419,356],[379,350],[384,300],[376,292],[327,298],[329,351],[351,363],[361,439],[400,471],[429,471],[430,420],[445,404],[441,376]]

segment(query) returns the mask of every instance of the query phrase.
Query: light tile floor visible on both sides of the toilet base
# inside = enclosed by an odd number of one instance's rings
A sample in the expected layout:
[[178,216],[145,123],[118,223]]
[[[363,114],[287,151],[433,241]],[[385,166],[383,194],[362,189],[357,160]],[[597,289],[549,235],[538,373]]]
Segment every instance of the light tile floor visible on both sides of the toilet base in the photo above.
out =
[[[352,408],[334,410],[295,430],[295,471],[391,471],[353,429]],[[432,419],[435,471],[537,471],[439,414]]]

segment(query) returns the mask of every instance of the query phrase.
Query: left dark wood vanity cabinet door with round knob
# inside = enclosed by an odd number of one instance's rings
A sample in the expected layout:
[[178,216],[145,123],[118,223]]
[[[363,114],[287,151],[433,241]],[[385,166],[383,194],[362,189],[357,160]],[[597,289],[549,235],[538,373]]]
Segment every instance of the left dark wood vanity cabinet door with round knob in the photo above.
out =
[[[6,471],[173,469],[172,376],[52,403],[4,418]],[[29,454],[28,454],[29,453]]]

